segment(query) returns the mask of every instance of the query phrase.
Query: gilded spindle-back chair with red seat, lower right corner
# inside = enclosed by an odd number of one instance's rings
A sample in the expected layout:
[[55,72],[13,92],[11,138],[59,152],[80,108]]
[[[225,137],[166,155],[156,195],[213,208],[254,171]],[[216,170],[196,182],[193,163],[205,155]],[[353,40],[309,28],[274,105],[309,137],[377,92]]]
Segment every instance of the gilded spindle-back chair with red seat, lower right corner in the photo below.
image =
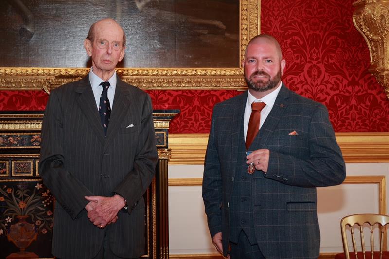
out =
[[[370,225],[370,231],[363,230],[364,224]],[[374,233],[373,227],[378,224],[379,229],[379,251],[374,251]],[[343,251],[344,253],[337,254],[335,259],[389,259],[389,252],[387,251],[387,244],[384,243],[384,236],[387,235],[386,226],[389,224],[388,215],[380,214],[355,214],[342,218],[340,221],[340,229],[342,232]],[[359,226],[359,231],[354,233],[354,225]],[[348,227],[347,227],[348,226]],[[366,225],[365,225],[366,226]],[[350,228],[351,242],[353,244],[354,252],[349,251],[349,243],[346,236],[346,228]],[[359,233],[358,233],[359,232]],[[368,251],[365,245],[365,236],[369,237],[370,247],[367,245]],[[357,242],[360,241],[359,251],[357,249]],[[359,244],[358,244],[359,246]]]

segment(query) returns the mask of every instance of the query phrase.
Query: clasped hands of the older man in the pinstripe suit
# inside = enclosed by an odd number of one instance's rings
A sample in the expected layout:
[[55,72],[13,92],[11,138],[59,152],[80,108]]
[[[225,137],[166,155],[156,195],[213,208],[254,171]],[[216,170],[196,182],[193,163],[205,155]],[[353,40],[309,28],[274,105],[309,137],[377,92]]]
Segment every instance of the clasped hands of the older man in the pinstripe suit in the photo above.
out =
[[115,223],[118,212],[124,205],[124,198],[119,195],[112,197],[85,196],[89,203],[85,206],[89,220],[97,227],[104,228],[106,225]]

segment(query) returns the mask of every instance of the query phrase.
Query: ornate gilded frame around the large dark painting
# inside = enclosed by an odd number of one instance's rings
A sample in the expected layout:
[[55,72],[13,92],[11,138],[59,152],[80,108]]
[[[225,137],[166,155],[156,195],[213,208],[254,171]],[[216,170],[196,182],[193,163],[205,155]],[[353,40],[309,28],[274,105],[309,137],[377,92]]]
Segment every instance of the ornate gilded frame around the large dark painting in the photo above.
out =
[[[261,0],[240,0],[240,57],[248,40],[260,33]],[[0,90],[51,89],[84,77],[88,68],[0,67]],[[127,83],[144,90],[245,89],[241,65],[231,68],[121,68]]]

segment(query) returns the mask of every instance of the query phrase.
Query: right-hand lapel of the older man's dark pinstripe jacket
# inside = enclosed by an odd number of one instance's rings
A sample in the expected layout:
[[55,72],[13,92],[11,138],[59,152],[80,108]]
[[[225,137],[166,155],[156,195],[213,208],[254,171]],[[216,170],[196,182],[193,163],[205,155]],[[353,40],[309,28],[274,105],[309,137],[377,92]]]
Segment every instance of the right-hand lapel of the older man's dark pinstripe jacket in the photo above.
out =
[[119,77],[117,77],[114,97],[115,101],[106,132],[106,143],[104,145],[104,149],[106,149],[112,138],[117,135],[121,122],[123,121],[125,114],[128,112],[128,107],[131,105],[131,101],[128,98],[129,95],[130,92],[128,91],[128,87],[122,80],[120,80]]

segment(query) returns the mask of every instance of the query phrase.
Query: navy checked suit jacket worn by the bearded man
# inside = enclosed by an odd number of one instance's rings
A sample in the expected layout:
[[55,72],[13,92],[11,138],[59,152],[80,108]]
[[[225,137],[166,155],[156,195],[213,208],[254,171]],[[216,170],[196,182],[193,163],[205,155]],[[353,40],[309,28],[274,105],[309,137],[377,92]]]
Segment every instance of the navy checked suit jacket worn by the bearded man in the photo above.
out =
[[[233,177],[242,158],[247,92],[214,107],[205,157],[203,199],[213,237],[222,232],[227,254]],[[298,135],[289,135],[296,131]],[[244,144],[243,144],[244,145]],[[252,215],[255,236],[267,259],[317,258],[320,232],[316,187],[340,184],[345,164],[324,105],[285,85],[250,150],[270,150],[268,171],[255,171]],[[239,161],[239,162],[238,162]]]

